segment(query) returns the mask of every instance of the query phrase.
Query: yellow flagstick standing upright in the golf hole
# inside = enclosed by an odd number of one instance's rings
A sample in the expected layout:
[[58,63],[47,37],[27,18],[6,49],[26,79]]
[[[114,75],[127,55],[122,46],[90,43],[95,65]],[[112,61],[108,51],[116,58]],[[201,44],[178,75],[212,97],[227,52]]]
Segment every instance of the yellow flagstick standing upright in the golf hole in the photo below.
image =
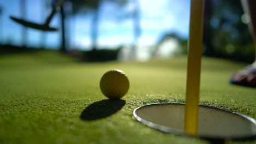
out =
[[197,135],[202,53],[203,0],[190,1],[184,133]]

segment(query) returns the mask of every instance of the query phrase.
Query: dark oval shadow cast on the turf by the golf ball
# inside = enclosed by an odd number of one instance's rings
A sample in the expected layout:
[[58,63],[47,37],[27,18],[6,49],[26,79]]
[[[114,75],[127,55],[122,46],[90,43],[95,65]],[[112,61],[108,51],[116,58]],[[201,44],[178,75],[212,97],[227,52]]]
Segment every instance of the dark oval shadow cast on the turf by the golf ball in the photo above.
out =
[[92,103],[81,113],[80,118],[84,121],[94,121],[113,115],[125,105],[125,100],[101,100]]

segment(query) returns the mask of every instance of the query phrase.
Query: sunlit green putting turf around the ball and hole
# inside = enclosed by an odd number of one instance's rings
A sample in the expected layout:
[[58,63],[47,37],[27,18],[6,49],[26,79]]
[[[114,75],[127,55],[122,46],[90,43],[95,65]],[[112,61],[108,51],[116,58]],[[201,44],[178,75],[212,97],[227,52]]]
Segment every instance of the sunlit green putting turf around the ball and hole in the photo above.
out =
[[[1,56],[0,143],[205,143],[161,133],[132,117],[144,104],[184,103],[186,63],[186,57],[82,63],[49,51]],[[256,90],[228,83],[245,65],[203,58],[200,103],[256,118]],[[109,101],[100,91],[110,69],[129,76],[122,100]]]

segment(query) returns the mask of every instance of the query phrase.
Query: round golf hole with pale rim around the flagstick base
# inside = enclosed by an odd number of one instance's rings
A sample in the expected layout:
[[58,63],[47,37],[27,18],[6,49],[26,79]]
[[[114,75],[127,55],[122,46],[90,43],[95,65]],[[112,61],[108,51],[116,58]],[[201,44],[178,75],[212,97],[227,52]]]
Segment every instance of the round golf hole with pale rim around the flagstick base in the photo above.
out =
[[[184,104],[149,104],[135,109],[133,116],[151,128],[184,135],[184,110]],[[254,140],[256,122],[239,113],[200,105],[198,136],[205,139]]]

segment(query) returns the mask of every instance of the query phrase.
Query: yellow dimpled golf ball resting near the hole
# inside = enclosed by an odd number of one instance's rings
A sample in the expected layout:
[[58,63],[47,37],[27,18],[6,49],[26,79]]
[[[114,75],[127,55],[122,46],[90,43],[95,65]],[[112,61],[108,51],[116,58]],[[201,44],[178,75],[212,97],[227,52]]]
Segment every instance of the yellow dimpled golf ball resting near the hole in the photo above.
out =
[[128,92],[129,80],[123,71],[109,70],[101,77],[100,88],[109,99],[120,99]]

